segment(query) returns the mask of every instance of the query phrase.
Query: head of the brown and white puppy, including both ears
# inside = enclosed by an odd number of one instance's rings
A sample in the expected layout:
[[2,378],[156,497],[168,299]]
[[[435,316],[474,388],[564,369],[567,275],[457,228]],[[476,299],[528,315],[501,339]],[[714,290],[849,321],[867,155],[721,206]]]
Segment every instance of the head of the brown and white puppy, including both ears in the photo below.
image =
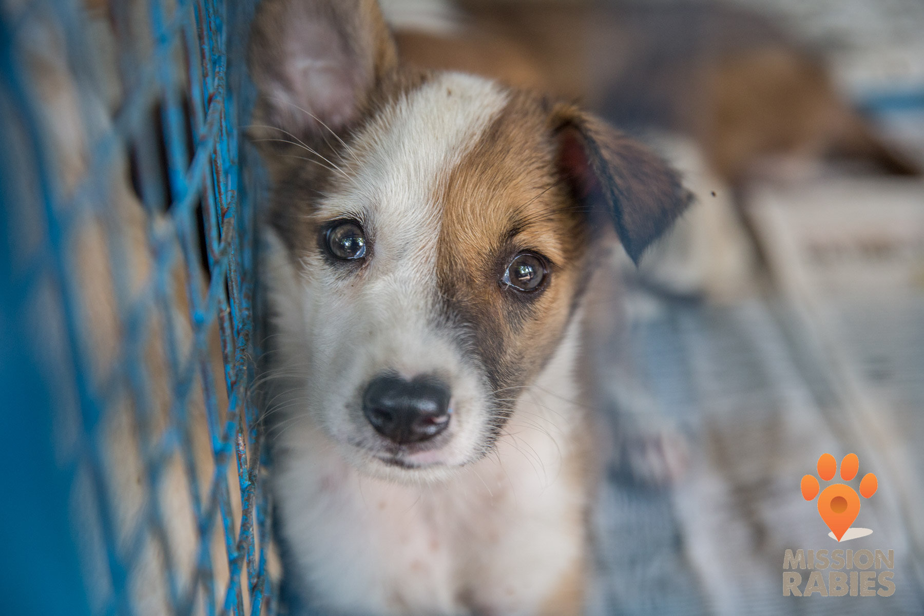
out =
[[490,450],[553,356],[592,229],[612,220],[638,252],[684,199],[569,105],[403,70],[380,19],[267,0],[251,39],[257,139],[282,139],[266,149],[279,426],[375,475],[439,477]]

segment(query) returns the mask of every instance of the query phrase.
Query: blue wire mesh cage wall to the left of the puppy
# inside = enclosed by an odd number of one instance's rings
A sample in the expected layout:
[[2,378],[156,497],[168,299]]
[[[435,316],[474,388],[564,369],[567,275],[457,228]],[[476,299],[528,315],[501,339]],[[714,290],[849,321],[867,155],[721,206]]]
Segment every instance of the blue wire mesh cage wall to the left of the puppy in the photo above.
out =
[[12,613],[274,612],[254,5],[0,0]]

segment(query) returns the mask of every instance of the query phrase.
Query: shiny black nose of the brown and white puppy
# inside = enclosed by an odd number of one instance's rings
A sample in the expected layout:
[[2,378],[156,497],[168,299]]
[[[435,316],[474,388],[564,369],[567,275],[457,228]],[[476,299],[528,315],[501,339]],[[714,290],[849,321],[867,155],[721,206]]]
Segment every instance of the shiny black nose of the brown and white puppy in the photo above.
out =
[[362,412],[398,444],[426,441],[449,425],[449,388],[432,377],[377,377],[362,397]]

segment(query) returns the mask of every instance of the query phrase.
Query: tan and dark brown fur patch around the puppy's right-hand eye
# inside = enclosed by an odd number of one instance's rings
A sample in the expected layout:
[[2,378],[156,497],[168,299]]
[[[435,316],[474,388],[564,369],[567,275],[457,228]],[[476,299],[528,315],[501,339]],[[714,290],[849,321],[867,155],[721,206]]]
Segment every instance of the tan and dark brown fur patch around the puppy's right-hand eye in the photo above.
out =
[[[440,289],[448,314],[470,328],[495,391],[526,384],[539,371],[564,332],[583,276],[586,215],[557,173],[550,124],[540,98],[512,94],[442,187]],[[500,284],[521,251],[548,260],[537,291]]]

